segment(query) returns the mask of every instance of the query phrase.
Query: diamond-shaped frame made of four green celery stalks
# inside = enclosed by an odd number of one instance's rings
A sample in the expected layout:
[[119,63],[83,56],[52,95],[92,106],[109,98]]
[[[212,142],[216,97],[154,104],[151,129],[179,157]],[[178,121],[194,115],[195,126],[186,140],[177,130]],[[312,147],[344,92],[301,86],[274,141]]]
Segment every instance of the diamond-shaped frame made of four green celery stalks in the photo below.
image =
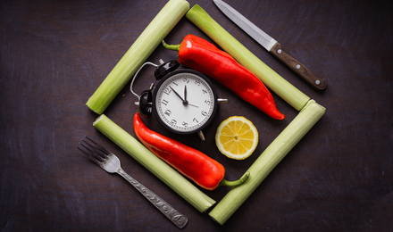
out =
[[[189,4],[184,0],[171,0],[164,8],[169,8],[167,5],[175,2],[183,4],[181,7],[186,7],[188,10]],[[171,9],[176,8],[174,5],[171,5],[171,7],[174,7]],[[181,12],[179,12],[181,14],[180,18],[187,10],[182,9]],[[168,10],[165,11],[168,12]],[[151,25],[156,25],[157,21],[163,19],[162,16],[159,17],[162,12],[163,10],[157,14],[155,19],[149,24],[142,35],[138,37],[129,51],[121,58],[121,61],[115,66],[105,81],[97,88],[94,95],[88,99],[87,105],[92,111],[98,114],[105,111],[106,107],[113,101],[113,98],[118,95],[122,87],[130,80],[133,73],[135,73],[146,58],[153,53],[155,47],[158,46],[161,40],[163,40],[163,37],[171,31],[177,21],[180,21],[180,18],[171,21],[172,24],[170,23],[171,25],[166,27],[165,31],[160,30],[160,39],[158,42],[157,39],[153,39],[155,41],[151,44],[152,40],[150,37],[152,33],[156,33],[156,31],[151,29],[154,27]],[[171,12],[171,14],[173,13]],[[179,15],[177,17],[179,17]],[[299,91],[296,87],[293,87],[287,80],[282,79],[279,74],[260,61],[245,46],[241,45],[236,38],[232,37],[225,29],[215,22],[199,5],[195,5],[189,10],[186,17],[196,24],[198,28],[205,31],[209,37],[227,53],[238,60],[238,62],[247,67],[248,70],[254,72],[273,92],[279,95],[297,111],[300,111],[297,117],[288,124],[288,127],[280,133],[279,137],[266,148],[247,170],[251,173],[250,179],[242,186],[232,188],[229,193],[224,196],[222,201],[210,211],[209,215],[212,219],[223,225],[230,219],[231,215],[238,210],[238,207],[247,200],[248,196],[255,191],[256,187],[263,182],[263,179],[269,175],[278,163],[280,163],[286,154],[297,145],[298,141],[305,136],[309,129],[313,128],[314,124],[322,118],[325,108],[320,104],[316,104],[314,100],[310,100],[307,95]],[[145,42],[145,39],[149,42]],[[152,46],[150,46],[148,51],[143,50],[145,46],[148,46],[147,44]],[[135,52],[135,50],[137,50],[137,52]],[[133,61],[131,59],[135,53],[141,53],[138,56],[138,61]],[[173,169],[151,153],[144,145],[140,144],[137,139],[131,137],[130,134],[117,126],[112,120],[108,119],[104,114],[98,117],[93,125],[106,137],[109,137],[116,145],[119,145],[121,149],[144,165],[147,170],[150,170],[155,176],[163,180],[166,185],[170,186],[175,192],[188,201],[188,203],[196,207],[198,211],[207,211],[215,203],[213,199],[200,192],[196,186],[192,185],[187,179],[183,179],[182,176],[178,177],[176,174],[171,174],[169,175],[170,178],[165,178],[164,173],[166,171],[171,172]],[[143,158],[146,154],[149,159]],[[177,175],[180,174],[178,173]],[[173,177],[175,177],[174,179],[176,179],[176,181],[174,181]],[[186,186],[185,188],[176,185],[178,179]],[[193,195],[193,191],[197,191],[197,195]]]

